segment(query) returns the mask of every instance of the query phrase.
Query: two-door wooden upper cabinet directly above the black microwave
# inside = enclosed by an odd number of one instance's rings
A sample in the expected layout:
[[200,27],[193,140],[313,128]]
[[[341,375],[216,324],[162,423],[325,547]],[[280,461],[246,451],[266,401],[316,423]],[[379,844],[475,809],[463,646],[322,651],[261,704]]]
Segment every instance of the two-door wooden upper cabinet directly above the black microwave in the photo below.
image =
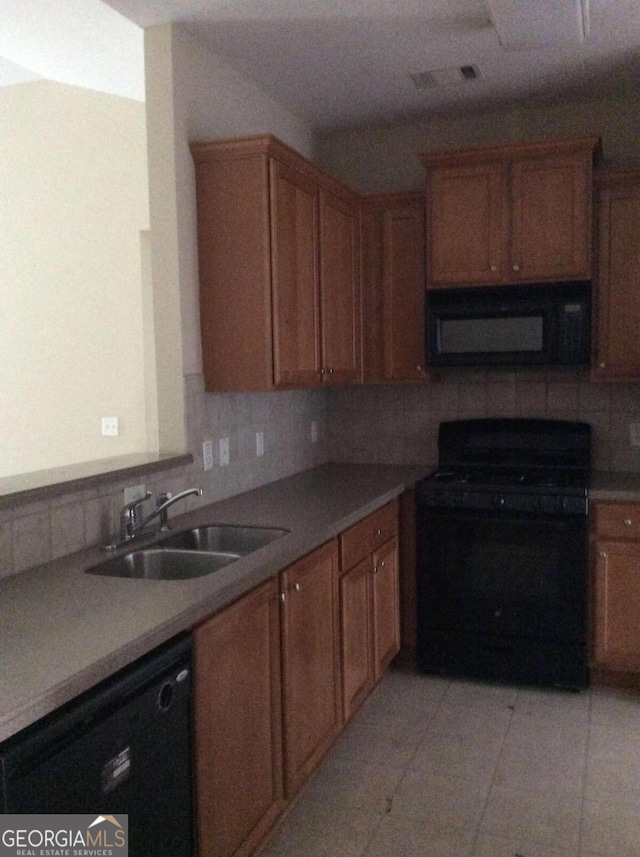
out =
[[591,277],[595,137],[420,156],[427,286]]

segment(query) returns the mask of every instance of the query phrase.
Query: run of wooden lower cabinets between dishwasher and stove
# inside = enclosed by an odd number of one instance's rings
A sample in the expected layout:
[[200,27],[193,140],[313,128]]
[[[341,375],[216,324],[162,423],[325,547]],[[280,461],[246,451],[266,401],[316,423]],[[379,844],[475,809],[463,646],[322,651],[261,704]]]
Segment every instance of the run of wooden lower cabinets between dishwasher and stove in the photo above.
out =
[[194,629],[199,857],[258,848],[395,656],[397,530],[394,501]]

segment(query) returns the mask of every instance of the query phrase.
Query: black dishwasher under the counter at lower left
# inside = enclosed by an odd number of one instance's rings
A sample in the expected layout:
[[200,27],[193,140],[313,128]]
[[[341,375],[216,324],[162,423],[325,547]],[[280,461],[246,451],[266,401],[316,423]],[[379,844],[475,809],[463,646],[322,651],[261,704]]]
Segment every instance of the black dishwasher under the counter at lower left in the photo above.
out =
[[0,745],[0,810],[126,813],[130,857],[192,857],[190,637]]

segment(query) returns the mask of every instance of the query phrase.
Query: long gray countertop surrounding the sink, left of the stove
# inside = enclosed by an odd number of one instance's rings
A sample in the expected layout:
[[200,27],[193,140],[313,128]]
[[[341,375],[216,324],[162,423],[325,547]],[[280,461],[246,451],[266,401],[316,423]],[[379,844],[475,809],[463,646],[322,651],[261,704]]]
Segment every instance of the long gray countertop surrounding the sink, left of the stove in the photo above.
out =
[[176,517],[175,530],[227,523],[289,533],[207,577],[85,574],[98,548],[0,581],[0,740],[230,604],[398,496],[424,467],[324,465]]

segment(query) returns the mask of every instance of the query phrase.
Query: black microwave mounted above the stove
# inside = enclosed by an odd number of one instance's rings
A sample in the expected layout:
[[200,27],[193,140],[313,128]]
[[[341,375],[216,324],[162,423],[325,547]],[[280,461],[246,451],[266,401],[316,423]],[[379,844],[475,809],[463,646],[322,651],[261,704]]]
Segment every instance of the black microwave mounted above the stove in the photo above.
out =
[[428,291],[426,332],[433,368],[588,366],[591,283]]

